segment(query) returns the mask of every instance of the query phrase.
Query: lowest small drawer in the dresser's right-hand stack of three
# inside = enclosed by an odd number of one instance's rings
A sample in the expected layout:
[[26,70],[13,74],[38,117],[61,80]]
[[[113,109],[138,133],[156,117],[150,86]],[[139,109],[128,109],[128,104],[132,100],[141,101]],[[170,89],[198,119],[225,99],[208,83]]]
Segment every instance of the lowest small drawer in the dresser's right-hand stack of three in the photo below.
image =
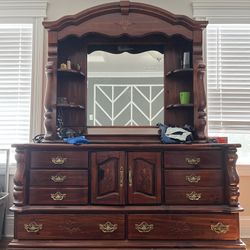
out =
[[168,205],[215,205],[223,204],[222,187],[166,187],[165,201]]

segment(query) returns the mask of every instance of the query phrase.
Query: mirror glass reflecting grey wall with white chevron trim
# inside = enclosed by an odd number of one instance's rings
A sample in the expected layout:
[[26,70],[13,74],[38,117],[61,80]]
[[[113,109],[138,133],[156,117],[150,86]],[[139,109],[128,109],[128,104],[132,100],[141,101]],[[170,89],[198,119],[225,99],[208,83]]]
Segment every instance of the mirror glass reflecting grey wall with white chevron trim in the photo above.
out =
[[88,126],[155,126],[164,120],[164,59],[155,51],[88,55]]

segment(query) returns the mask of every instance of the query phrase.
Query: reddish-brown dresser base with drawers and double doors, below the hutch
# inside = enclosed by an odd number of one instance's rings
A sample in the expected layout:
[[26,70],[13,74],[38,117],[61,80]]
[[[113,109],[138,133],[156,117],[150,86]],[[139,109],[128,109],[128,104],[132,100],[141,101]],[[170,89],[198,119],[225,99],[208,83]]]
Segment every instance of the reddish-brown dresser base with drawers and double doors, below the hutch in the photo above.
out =
[[237,145],[16,147],[10,249],[246,249]]

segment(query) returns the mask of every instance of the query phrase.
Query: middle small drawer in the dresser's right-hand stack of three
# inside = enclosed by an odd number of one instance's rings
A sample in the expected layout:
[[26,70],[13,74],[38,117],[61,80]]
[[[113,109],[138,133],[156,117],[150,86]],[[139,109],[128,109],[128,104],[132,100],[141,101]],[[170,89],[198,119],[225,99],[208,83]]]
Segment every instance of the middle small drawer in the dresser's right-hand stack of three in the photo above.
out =
[[165,170],[166,186],[222,186],[220,170]]

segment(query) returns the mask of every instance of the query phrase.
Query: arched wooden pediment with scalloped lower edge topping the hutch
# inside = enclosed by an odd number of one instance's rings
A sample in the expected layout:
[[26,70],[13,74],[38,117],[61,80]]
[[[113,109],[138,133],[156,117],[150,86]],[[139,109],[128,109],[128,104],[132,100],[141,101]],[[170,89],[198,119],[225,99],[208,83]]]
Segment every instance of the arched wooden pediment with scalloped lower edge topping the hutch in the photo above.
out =
[[81,37],[89,33],[112,37],[140,37],[157,33],[165,36],[181,35],[193,40],[193,31],[205,25],[206,22],[129,1],[103,4],[57,21],[44,22],[45,28],[58,33],[58,40],[69,35]]

